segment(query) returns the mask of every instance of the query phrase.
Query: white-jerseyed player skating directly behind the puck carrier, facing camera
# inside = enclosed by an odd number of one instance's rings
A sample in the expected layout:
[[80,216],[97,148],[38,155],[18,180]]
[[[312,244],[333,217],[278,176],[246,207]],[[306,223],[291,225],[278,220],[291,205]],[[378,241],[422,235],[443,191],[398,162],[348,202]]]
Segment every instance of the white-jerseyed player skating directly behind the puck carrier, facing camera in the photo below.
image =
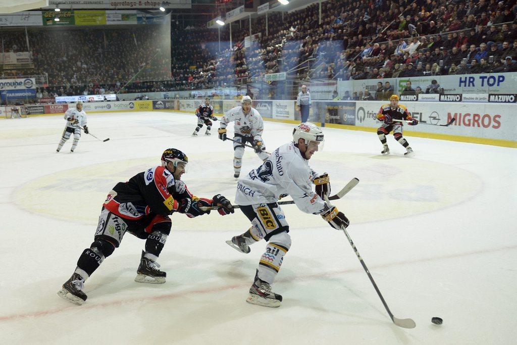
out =
[[242,167],[242,156],[244,156],[244,144],[249,142],[253,145],[255,153],[262,160],[269,156],[264,150],[264,141],[262,140],[262,132],[264,131],[264,121],[260,113],[251,108],[250,96],[243,96],[240,100],[241,106],[230,109],[221,117],[221,125],[219,126],[219,139],[226,140],[226,126],[230,122],[234,122],[235,135],[233,140],[234,158],[233,168],[234,177],[239,177],[240,168]]

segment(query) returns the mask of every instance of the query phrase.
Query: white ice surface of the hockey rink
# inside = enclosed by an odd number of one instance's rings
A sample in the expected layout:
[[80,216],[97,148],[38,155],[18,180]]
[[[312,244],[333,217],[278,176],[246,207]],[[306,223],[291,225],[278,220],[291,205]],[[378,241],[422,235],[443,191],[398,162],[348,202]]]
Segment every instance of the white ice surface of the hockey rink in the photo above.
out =
[[[388,306],[417,327],[391,323],[343,233],[321,217],[284,206],[293,245],[273,289],[278,309],[245,302],[265,243],[241,254],[224,241],[249,221],[237,211],[189,219],[175,214],[159,259],[163,285],[133,281],[144,241],[126,234],[85,284],[79,307],[56,291],[89,247],[107,192],[159,164],[176,147],[196,195],[234,200],[233,149],[192,138],[195,117],[168,112],[88,114],[75,153],[55,153],[62,116],[0,120],[0,343],[513,344],[517,339],[517,151],[325,128],[311,166],[334,192],[359,185],[338,208]],[[293,125],[265,123],[272,151]],[[204,133],[205,128],[200,133]],[[249,149],[243,174],[260,164]],[[438,316],[444,324],[431,324]]]

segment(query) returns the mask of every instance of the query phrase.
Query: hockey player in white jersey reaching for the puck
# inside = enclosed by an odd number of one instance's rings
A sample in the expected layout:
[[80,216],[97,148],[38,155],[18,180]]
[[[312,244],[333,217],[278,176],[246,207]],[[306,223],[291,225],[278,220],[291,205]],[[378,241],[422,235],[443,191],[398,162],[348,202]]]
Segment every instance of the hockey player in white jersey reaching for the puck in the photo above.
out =
[[262,166],[237,183],[235,203],[251,221],[251,228],[226,243],[249,253],[251,244],[263,238],[268,242],[246,299],[248,303],[275,308],[282,302],[282,296],[271,291],[271,283],[291,247],[289,226],[277,203],[281,196],[290,195],[302,212],[321,215],[335,229],[348,227],[345,215],[323,200],[330,193],[328,174],[317,174],[308,164],[323,146],[323,139],[323,132],[317,126],[298,125],[293,131],[293,142],[277,148]]

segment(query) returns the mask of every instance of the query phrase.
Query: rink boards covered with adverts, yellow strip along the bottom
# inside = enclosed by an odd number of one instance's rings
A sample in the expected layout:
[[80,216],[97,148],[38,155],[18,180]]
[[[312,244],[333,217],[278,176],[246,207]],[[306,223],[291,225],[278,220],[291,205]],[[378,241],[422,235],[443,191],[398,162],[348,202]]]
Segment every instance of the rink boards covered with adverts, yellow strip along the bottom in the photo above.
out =
[[[203,100],[162,99],[146,101],[115,101],[84,103],[86,113],[127,111],[178,111],[194,113]],[[236,100],[212,100],[215,115],[221,116],[240,104]],[[384,101],[313,101],[309,121],[318,125],[375,132],[382,123],[376,114]],[[517,148],[517,114],[510,104],[462,102],[401,102],[421,124],[404,125],[407,136],[453,140]],[[64,114],[70,104],[39,104],[27,106],[29,115]],[[266,121],[298,123],[300,113],[296,101],[254,100]],[[0,117],[2,114],[0,114]],[[452,125],[443,127],[450,119]],[[431,124],[424,125],[424,124]]]

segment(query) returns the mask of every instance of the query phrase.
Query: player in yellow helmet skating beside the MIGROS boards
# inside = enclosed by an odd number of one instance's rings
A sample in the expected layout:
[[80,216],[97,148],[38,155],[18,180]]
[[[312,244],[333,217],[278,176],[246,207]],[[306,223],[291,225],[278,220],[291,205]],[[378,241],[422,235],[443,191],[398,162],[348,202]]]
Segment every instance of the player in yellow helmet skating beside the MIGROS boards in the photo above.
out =
[[418,124],[418,120],[416,118],[411,117],[407,108],[402,104],[399,104],[399,96],[392,95],[389,98],[389,104],[384,104],[384,106],[379,109],[377,113],[377,119],[380,121],[384,121],[384,124],[377,128],[377,136],[381,143],[384,145],[384,149],[381,152],[383,155],[389,155],[389,147],[386,143],[386,134],[389,134],[393,130],[393,137],[406,148],[406,153],[404,155],[409,155],[413,152],[413,149],[409,146],[407,140],[402,137],[403,123],[402,122],[393,122],[394,119],[397,120],[407,120],[411,121],[408,125],[415,126]]

